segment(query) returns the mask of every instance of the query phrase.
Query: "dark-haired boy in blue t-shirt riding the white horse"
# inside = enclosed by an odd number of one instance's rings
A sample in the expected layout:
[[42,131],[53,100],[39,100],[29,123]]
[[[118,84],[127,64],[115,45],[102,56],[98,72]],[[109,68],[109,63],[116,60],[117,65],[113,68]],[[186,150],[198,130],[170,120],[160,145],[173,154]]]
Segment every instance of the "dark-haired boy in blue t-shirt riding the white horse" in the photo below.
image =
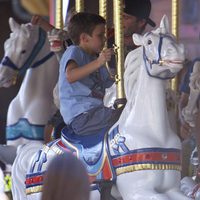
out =
[[103,50],[105,23],[97,14],[81,12],[68,24],[74,45],[66,49],[60,61],[59,98],[61,115],[75,134],[109,129],[122,111],[103,105],[105,88],[113,83],[104,67],[113,53],[112,49]]

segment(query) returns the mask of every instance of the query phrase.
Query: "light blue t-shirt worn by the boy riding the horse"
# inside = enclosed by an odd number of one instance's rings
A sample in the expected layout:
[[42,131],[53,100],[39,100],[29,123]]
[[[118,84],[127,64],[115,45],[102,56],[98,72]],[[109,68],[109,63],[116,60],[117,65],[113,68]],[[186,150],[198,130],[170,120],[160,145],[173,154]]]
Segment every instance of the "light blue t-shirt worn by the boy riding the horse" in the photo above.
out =
[[108,71],[105,67],[99,69],[99,73],[94,72],[88,77],[69,83],[66,78],[66,65],[70,60],[82,67],[96,59],[79,46],[69,46],[63,54],[60,61],[59,70],[59,99],[60,99],[60,113],[66,124],[81,113],[84,113],[94,107],[103,103],[102,99],[93,97],[92,93],[99,93],[104,95],[105,88],[112,85],[109,78]]

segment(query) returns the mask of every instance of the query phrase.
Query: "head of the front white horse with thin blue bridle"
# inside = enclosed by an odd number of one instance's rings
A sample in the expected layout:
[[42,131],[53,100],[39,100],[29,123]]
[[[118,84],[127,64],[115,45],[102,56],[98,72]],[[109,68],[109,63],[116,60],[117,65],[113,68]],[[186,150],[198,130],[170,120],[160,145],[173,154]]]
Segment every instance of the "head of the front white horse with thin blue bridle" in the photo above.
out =
[[143,46],[147,72],[158,78],[172,78],[183,67],[184,47],[170,33],[169,22],[163,16],[160,27],[144,36],[133,34],[136,45]]

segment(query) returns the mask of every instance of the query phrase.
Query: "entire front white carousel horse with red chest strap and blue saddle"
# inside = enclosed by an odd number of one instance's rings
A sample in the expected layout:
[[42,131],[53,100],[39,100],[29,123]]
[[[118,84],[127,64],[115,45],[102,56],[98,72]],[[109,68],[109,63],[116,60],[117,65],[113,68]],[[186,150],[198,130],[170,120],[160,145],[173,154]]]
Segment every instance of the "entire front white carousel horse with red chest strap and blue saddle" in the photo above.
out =
[[[26,188],[27,199],[39,200],[49,161],[64,151],[71,151],[85,164],[91,200],[99,199],[97,182],[102,180],[113,181],[123,200],[190,199],[179,189],[181,142],[169,125],[165,97],[166,80],[183,67],[183,45],[169,33],[166,16],[155,31],[134,34],[133,40],[141,47],[129,53],[125,62],[127,104],[119,121],[108,133],[102,130],[82,137],[66,127],[61,139],[45,145],[32,158],[32,154],[21,158],[19,154],[13,171],[13,185],[20,193],[16,199],[26,199]],[[19,173],[26,158],[31,163],[25,185],[19,181],[25,175]]]

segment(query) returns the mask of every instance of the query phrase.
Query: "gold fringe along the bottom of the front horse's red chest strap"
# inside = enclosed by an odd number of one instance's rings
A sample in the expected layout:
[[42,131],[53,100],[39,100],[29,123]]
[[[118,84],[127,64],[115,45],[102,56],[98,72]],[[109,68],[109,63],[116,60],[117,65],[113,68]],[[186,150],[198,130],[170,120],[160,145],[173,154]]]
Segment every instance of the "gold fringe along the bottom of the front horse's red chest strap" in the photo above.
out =
[[138,164],[131,165],[127,167],[120,167],[116,169],[116,174],[124,174],[128,172],[134,172],[138,170],[177,170],[181,171],[180,165],[172,165],[172,164]]

